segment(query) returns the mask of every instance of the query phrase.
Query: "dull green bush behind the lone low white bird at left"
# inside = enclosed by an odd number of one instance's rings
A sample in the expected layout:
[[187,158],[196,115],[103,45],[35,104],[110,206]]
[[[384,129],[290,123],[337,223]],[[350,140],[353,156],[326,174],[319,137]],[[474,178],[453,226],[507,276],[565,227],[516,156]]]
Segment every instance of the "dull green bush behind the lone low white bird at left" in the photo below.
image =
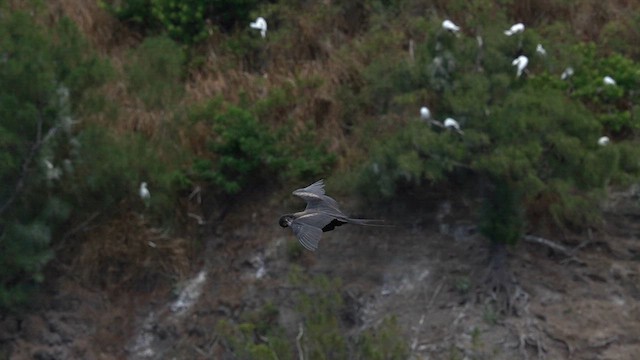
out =
[[[85,212],[111,211],[124,199],[133,199],[142,211],[138,188],[142,181],[151,192],[149,209],[167,223],[173,216],[173,206],[180,183],[181,154],[160,158],[163,143],[154,143],[140,135],[111,134],[102,127],[88,127],[78,135],[81,156],[74,163],[69,182],[75,183],[66,193]],[[167,225],[167,224],[165,224]]]

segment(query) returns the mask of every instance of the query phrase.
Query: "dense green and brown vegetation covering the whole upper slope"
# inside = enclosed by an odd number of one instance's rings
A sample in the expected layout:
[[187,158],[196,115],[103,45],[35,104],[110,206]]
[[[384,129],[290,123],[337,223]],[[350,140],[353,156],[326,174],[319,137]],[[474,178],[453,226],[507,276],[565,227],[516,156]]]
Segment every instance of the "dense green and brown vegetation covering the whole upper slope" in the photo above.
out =
[[[71,262],[88,223],[144,213],[183,231],[175,214],[195,189],[221,207],[332,173],[379,201],[451,183],[483,198],[480,229],[504,244],[594,226],[607,190],[640,174],[640,53],[626,45],[640,8],[581,27],[587,10],[563,1],[103,1],[127,30],[100,49],[29,4],[0,17],[1,308],[24,304],[52,260]],[[518,20],[526,30],[505,36]],[[463,133],[421,120],[425,105]],[[352,345],[337,349],[368,351]]]

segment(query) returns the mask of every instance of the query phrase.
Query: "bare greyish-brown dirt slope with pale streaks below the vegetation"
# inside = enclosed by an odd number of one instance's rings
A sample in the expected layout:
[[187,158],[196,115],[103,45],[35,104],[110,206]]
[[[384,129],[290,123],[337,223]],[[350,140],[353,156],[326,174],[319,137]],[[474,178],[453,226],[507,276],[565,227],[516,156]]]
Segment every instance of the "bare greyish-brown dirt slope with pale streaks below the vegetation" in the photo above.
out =
[[[342,280],[350,331],[395,315],[417,359],[635,359],[637,202],[617,198],[606,232],[565,240],[579,246],[574,257],[526,242],[509,249],[522,289],[511,316],[478,296],[488,246],[469,231],[469,221],[454,220],[462,204],[441,202],[395,218],[382,214],[394,227],[343,226],[325,234],[319,251],[298,264]],[[40,310],[0,317],[0,357],[227,358],[216,323],[237,320],[269,300],[294,336],[299,319],[287,284],[292,235],[273,216],[281,210],[276,204],[236,209],[208,240],[207,261],[194,261],[193,278],[174,291],[106,296],[63,278],[43,295]]]

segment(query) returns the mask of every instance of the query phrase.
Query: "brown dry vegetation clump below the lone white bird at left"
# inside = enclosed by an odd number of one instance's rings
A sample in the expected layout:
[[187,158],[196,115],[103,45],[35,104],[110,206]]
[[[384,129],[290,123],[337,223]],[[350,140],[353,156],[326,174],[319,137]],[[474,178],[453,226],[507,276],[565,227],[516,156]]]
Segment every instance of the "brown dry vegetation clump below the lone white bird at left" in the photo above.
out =
[[192,246],[150,227],[143,215],[123,212],[86,233],[71,272],[87,286],[113,294],[150,292],[190,270]]

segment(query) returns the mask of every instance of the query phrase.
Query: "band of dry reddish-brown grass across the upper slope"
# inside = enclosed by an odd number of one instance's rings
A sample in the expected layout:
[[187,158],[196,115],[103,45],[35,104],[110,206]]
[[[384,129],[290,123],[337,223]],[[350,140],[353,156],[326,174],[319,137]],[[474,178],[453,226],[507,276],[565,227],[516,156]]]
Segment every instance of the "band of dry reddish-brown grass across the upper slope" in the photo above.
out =
[[[76,22],[99,52],[109,58],[117,73],[103,89],[107,102],[117,104],[115,119],[113,115],[96,114],[85,119],[87,122],[104,125],[116,133],[139,132],[154,139],[166,136],[165,125],[172,121],[173,112],[180,109],[213,98],[238,103],[241,94],[250,101],[258,101],[267,98],[273,89],[289,86],[293,87],[295,104],[285,113],[261,121],[279,124],[292,119],[303,128],[306,121],[313,120],[320,135],[329,140],[332,151],[346,151],[349,146],[341,123],[340,101],[334,94],[337,86],[357,81],[362,64],[360,59],[348,58],[335,51],[355,38],[347,39],[344,32],[335,30],[344,19],[335,18],[325,4],[315,4],[314,9],[310,9],[316,14],[314,21],[308,21],[300,13],[283,14],[284,21],[293,31],[289,31],[290,38],[278,43],[267,41],[265,48],[256,55],[268,60],[263,72],[250,71],[246,59],[220,53],[217,47],[226,35],[213,34],[209,42],[202,45],[204,53],[208,53],[205,65],[189,74],[184,84],[186,96],[170,111],[145,108],[127,89],[124,64],[128,50],[139,43],[139,35],[127,30],[95,1],[55,0],[48,3],[48,7],[53,21],[65,15]],[[256,61],[260,59],[249,59],[249,63]],[[312,78],[322,79],[321,85],[315,88],[298,86],[300,79]],[[203,151],[201,134],[179,131],[173,141],[178,146]]]

